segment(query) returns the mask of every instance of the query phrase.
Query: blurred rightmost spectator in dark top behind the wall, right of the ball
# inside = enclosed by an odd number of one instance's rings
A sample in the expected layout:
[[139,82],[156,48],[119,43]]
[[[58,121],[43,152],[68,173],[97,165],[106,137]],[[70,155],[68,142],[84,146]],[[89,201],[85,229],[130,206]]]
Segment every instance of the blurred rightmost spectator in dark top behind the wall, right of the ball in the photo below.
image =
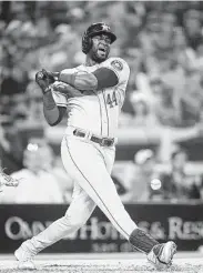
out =
[[201,198],[200,189],[195,183],[196,178],[186,173],[186,163],[185,150],[177,149],[172,153],[171,170],[161,175],[163,199],[179,202]]

